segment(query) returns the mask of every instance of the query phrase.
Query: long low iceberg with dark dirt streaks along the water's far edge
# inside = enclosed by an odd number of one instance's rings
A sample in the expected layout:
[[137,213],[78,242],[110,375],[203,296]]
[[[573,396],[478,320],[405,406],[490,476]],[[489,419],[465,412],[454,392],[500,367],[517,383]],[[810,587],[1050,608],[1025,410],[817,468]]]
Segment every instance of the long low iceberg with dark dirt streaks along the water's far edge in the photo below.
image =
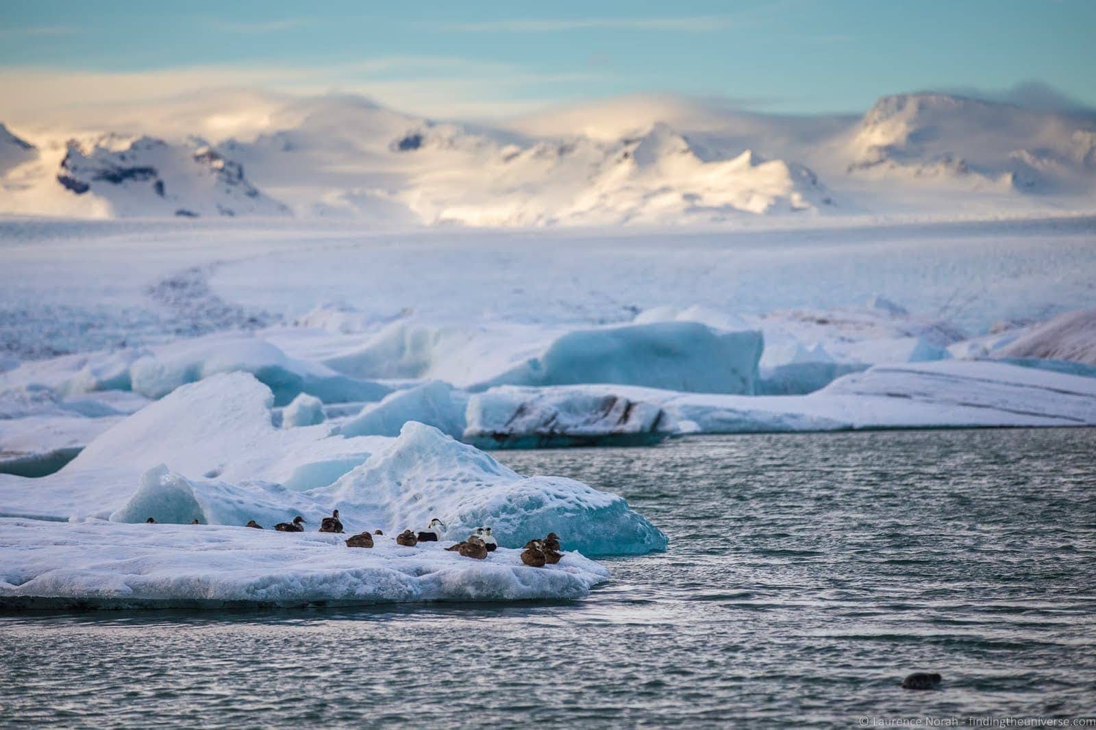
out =
[[[629,418],[604,418],[626,403]],[[619,411],[623,413],[624,411]],[[877,365],[806,396],[688,393],[608,385],[492,388],[468,403],[465,440],[482,447],[607,443],[623,433],[1096,425],[1096,379],[986,361]]]

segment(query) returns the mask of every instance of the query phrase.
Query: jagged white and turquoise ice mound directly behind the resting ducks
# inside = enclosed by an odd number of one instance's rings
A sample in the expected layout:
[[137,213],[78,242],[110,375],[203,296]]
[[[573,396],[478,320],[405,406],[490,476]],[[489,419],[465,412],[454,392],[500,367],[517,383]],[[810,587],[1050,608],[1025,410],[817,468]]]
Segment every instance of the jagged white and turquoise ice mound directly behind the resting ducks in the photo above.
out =
[[94,438],[41,479],[0,475],[0,515],[243,525],[333,509],[347,531],[445,535],[491,525],[504,547],[555,532],[587,555],[663,549],[666,537],[627,502],[561,477],[526,478],[422,423],[397,437],[275,427],[273,395],[249,374],[182,386]]

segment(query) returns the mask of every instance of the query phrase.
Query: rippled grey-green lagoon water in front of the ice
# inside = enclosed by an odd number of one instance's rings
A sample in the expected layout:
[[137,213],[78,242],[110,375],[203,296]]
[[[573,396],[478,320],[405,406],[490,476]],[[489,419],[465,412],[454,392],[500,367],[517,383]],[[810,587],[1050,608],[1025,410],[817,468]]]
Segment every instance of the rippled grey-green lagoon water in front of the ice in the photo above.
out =
[[[1096,430],[511,452],[671,537],[580,602],[0,617],[0,722],[699,721],[1096,711]],[[564,536],[566,541],[566,536]],[[937,692],[900,688],[938,671]]]

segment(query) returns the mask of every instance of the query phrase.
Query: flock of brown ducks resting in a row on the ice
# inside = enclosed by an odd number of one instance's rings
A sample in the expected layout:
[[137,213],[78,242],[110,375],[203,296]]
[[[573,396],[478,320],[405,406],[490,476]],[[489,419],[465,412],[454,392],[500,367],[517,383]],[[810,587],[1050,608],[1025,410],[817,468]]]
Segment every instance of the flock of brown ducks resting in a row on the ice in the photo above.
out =
[[[149,517],[145,522],[156,524],[156,520],[152,517]],[[197,525],[199,523],[195,520],[191,524]],[[302,533],[305,532],[305,518],[297,515],[293,518],[293,522],[277,523],[274,525],[274,529],[279,533]],[[264,529],[264,527],[254,520],[249,520],[244,527]],[[418,532],[413,529],[404,529],[396,536],[396,544],[404,547],[414,547],[419,543],[436,543],[441,539],[443,529],[445,529],[445,523],[437,517],[434,517],[423,529]],[[339,510],[332,511],[330,517],[324,517],[320,522],[320,532],[342,534],[343,525],[342,521],[339,518]],[[374,545],[374,535],[379,536],[384,535],[384,533],[379,529],[375,529],[372,533],[365,532],[352,535],[346,538],[346,547],[370,548]],[[493,552],[498,549],[498,547],[499,541],[491,535],[490,527],[477,527],[476,531],[468,536],[468,539],[461,540],[445,549],[457,552],[466,558],[483,560],[487,558],[488,552]],[[522,551],[522,562],[534,568],[544,568],[546,564],[553,566],[559,562],[562,557],[563,554],[560,552],[559,535],[556,533],[548,533],[548,536],[544,539],[529,540],[525,544],[525,548]]]

